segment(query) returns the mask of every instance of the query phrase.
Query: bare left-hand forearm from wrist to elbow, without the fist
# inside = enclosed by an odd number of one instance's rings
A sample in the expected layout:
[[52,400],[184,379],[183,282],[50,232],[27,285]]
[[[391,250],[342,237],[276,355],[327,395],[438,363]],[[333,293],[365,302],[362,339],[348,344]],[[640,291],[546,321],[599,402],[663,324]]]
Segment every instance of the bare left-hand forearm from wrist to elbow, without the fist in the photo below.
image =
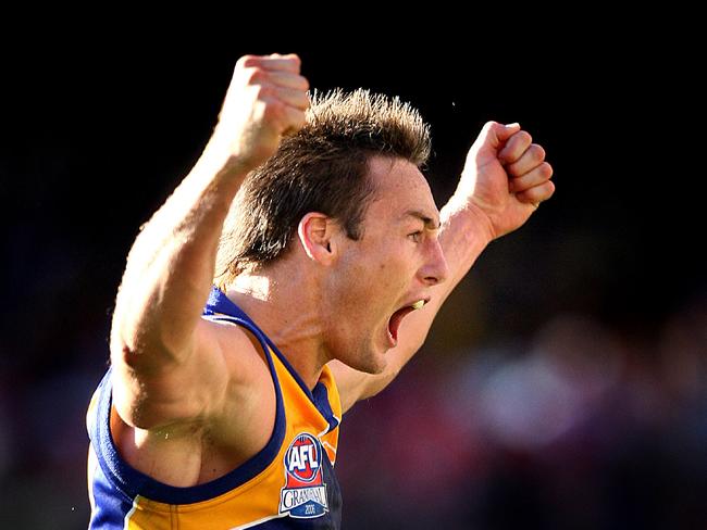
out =
[[144,368],[179,361],[213,279],[223,222],[247,167],[213,142],[137,237],[119,290],[111,350]]

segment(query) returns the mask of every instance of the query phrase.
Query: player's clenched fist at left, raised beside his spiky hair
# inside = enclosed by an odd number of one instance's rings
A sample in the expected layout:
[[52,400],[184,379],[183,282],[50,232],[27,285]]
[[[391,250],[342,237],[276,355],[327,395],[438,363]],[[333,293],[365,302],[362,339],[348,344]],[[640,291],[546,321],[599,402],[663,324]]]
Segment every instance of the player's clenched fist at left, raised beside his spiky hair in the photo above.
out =
[[305,125],[309,83],[295,54],[238,60],[219,115],[214,140],[247,168],[265,162],[284,135]]

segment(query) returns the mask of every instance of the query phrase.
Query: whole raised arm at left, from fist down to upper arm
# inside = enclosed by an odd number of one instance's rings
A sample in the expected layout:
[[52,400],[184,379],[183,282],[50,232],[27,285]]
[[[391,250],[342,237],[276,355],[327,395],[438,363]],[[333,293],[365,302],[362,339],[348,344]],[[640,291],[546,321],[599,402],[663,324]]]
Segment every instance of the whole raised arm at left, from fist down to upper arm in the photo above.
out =
[[114,404],[141,428],[208,414],[228,382],[219,332],[201,318],[219,238],[246,175],[301,128],[295,55],[241,58],[203,154],[137,237],[111,330]]

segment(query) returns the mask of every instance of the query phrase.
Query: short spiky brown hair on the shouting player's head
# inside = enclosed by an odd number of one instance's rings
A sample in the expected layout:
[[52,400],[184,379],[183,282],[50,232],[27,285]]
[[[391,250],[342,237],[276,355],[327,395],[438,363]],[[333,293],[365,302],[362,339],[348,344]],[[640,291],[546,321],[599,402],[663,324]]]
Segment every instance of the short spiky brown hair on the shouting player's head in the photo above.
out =
[[358,240],[375,193],[369,161],[382,155],[421,167],[430,128],[398,98],[358,89],[314,93],[306,125],[251,172],[234,199],[216,255],[215,281],[228,285],[282,256],[309,212],[339,223]]

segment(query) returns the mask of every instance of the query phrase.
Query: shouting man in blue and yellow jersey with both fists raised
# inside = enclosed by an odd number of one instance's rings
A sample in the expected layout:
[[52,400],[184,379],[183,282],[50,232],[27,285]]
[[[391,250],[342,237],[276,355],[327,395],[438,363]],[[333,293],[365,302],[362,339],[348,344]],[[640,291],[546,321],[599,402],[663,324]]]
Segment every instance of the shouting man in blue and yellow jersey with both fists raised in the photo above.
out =
[[238,61],[201,159],[131,250],[88,414],[91,528],[338,528],[342,414],[553,194],[543,149],[488,123],[439,213],[417,112],[362,90],[310,109],[299,68]]

